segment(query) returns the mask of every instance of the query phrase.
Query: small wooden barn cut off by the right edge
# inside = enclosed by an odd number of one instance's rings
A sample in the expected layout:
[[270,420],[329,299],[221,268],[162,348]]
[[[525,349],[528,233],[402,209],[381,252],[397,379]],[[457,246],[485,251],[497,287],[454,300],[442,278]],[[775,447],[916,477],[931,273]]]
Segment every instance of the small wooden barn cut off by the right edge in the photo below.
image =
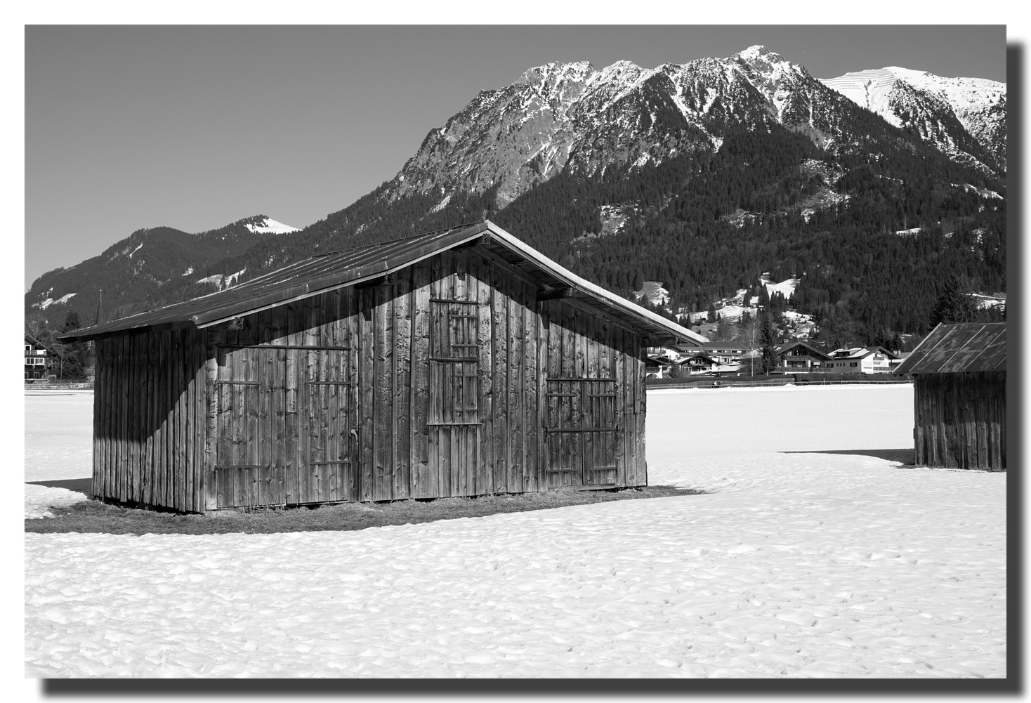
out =
[[913,376],[919,466],[1006,468],[1006,325],[938,325],[894,371]]

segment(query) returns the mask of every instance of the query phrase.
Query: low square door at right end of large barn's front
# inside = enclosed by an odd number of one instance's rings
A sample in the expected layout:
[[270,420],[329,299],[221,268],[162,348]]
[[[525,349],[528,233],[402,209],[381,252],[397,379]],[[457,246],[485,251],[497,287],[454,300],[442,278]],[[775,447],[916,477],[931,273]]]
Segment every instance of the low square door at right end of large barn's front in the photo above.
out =
[[548,487],[616,484],[616,380],[548,378],[544,471]]

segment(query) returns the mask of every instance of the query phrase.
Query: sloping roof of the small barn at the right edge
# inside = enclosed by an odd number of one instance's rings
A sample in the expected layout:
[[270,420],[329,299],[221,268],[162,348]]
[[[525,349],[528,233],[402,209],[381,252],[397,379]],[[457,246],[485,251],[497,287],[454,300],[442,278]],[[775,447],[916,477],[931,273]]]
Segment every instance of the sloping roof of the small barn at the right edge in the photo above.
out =
[[1006,370],[1006,324],[939,324],[894,373]]

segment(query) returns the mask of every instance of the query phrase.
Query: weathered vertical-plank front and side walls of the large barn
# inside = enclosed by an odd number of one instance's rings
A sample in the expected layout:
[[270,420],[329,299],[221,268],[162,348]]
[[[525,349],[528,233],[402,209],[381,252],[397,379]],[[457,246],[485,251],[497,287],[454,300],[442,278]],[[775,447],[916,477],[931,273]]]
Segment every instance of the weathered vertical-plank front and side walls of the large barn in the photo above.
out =
[[[476,303],[469,306],[477,315],[476,426],[427,427],[431,300]],[[309,466],[308,435],[326,425],[312,425],[322,421],[307,381],[327,363],[310,347],[347,350],[351,414],[340,427],[350,428],[353,461],[342,469]],[[550,376],[616,379],[617,484],[646,483],[640,338],[569,301],[538,306],[525,274],[477,247],[205,330],[112,335],[98,339],[97,350],[94,492],[119,501],[202,511],[243,500],[227,492],[294,504],[575,484],[578,477],[544,472]],[[250,488],[223,480],[220,489],[217,476],[220,437],[231,441],[213,390],[223,378],[258,379],[264,389],[239,396],[257,399],[243,432],[260,437],[247,440],[261,444],[256,461],[276,469],[240,469],[233,480]]]

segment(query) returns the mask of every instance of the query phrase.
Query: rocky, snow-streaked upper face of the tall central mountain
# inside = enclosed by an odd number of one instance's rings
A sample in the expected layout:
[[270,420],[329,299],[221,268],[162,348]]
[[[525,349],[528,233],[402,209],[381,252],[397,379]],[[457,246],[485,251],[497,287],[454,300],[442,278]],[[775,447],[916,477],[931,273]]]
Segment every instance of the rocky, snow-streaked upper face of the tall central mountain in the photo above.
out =
[[759,45],[654,69],[629,61],[602,69],[551,63],[480,91],[431,130],[383,197],[483,193],[497,185],[503,207],[563,169],[599,173],[712,154],[737,127],[780,124],[835,146],[851,139],[840,111],[852,105],[804,67]]

